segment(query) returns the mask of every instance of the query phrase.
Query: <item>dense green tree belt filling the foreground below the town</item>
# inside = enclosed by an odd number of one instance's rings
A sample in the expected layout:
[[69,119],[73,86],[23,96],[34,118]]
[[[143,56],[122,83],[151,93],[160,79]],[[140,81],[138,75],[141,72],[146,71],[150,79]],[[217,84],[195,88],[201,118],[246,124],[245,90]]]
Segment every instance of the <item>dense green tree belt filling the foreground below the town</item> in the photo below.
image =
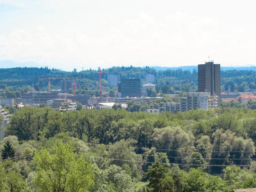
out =
[[0,191],[231,192],[256,187],[256,110],[14,110]]

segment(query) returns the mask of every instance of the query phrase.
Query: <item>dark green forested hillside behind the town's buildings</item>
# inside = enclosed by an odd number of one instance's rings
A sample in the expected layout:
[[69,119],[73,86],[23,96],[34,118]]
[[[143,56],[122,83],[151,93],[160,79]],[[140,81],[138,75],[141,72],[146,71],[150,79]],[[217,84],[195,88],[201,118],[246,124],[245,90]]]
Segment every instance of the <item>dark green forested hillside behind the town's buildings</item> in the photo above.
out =
[[[105,71],[102,74],[103,86],[107,86],[107,75],[120,75],[121,78],[141,78],[142,83],[145,83],[147,74],[155,76],[155,84],[163,86],[168,84],[173,91],[196,91],[197,90],[197,71],[196,70],[181,70],[168,69],[157,71],[151,67],[111,67],[102,69]],[[222,89],[230,91],[244,91],[247,88],[256,88],[254,78],[256,71],[247,70],[232,70],[221,72]],[[77,72],[76,69],[72,72],[60,71],[57,69],[36,68],[36,67],[17,67],[9,69],[0,69],[0,85],[13,86],[14,90],[22,86],[34,86],[38,84],[40,89],[46,90],[47,81],[40,80],[48,77],[68,77],[72,80],[76,79],[82,89],[98,88],[98,72],[97,70],[84,70]],[[52,79],[52,88],[60,87],[61,79]],[[2,86],[3,87],[3,86]],[[164,92],[164,91],[163,91]],[[171,91],[170,91],[171,92]],[[169,92],[169,93],[170,93]],[[168,92],[167,92],[168,93]]]

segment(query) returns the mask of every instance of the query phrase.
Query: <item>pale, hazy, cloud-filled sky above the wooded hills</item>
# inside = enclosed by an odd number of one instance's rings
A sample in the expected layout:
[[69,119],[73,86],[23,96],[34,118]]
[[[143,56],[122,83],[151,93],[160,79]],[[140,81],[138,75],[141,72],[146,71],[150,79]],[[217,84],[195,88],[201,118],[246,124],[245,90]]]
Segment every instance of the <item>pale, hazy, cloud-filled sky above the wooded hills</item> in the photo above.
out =
[[222,66],[256,66],[255,7],[255,0],[0,0],[0,61],[80,71],[191,66],[210,56]]

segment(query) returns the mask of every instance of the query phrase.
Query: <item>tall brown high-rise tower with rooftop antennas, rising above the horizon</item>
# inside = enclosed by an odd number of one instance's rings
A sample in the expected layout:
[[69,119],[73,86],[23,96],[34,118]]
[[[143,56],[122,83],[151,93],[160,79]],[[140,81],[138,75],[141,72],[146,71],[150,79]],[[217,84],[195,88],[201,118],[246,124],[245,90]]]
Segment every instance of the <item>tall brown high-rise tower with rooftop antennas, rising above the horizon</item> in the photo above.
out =
[[198,65],[198,92],[210,92],[211,96],[220,98],[220,64],[206,62]]

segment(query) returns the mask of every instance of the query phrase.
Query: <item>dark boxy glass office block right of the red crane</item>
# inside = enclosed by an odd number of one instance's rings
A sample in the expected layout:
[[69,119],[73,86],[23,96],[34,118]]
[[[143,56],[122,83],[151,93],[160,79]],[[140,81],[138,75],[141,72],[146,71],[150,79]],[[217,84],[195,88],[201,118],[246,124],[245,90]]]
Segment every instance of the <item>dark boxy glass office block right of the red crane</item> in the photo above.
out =
[[121,92],[122,97],[141,97],[140,79],[121,79],[121,83],[120,86],[118,86],[118,89],[119,92]]

